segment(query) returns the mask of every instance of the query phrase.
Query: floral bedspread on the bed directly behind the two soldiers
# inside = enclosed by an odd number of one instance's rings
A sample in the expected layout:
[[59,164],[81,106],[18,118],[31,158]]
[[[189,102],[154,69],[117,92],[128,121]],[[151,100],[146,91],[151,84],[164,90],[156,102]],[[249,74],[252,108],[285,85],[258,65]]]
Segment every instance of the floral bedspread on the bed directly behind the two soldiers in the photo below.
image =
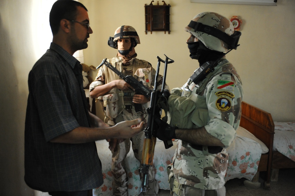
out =
[[[160,189],[169,189],[167,166],[171,163],[176,149],[176,141],[173,146],[165,149],[162,141],[157,140],[154,153],[154,164],[156,169],[155,178]],[[108,143],[104,140],[96,141],[98,155],[101,159],[104,184],[93,190],[94,196],[112,195],[112,173],[111,160],[112,153],[108,148]],[[237,136],[235,141],[227,148],[230,155],[227,174],[225,180],[233,178],[247,178],[252,180],[257,172],[261,148],[260,144],[244,136]],[[128,195],[137,196],[141,192],[141,180],[138,168],[140,162],[135,159],[132,149],[125,159],[128,173]]]

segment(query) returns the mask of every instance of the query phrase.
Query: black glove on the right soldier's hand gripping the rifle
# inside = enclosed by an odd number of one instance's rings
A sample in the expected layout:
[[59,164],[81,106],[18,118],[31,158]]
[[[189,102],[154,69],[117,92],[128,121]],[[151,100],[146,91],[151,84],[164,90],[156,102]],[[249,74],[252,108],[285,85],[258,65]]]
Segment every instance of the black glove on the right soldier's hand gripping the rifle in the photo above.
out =
[[173,127],[166,122],[162,121],[160,118],[155,118],[155,123],[157,124],[157,138],[162,141],[168,141],[171,139],[177,139],[175,135],[175,129],[178,127]]

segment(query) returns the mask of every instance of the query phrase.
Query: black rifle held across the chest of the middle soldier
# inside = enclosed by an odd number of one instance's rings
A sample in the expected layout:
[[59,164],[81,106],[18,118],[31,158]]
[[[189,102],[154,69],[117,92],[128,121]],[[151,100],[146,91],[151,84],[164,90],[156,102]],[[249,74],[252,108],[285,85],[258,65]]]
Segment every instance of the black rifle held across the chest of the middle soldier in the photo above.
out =
[[[125,76],[119,70],[117,70],[116,67],[112,66],[109,62],[107,62],[106,59],[102,60],[101,64],[98,67],[96,67],[96,69],[99,69],[102,65],[106,65],[106,67],[111,69],[113,72],[119,75],[126,83],[132,86],[132,88],[135,89],[136,94],[144,95],[148,99],[150,98],[152,90],[148,89],[145,85],[143,85],[142,81],[139,82],[132,75]],[[142,106],[140,103],[135,103],[134,108],[136,112],[142,111]]]

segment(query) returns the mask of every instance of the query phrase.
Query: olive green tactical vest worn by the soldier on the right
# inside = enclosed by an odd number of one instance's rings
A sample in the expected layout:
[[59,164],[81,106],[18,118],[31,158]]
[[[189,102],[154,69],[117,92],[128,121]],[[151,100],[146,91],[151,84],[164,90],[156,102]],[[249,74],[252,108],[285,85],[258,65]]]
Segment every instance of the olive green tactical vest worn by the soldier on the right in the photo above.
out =
[[205,126],[209,120],[208,107],[204,91],[206,85],[216,75],[232,74],[239,80],[235,68],[226,59],[222,59],[215,70],[192,90],[173,88],[168,99],[168,123],[178,128],[192,129]]

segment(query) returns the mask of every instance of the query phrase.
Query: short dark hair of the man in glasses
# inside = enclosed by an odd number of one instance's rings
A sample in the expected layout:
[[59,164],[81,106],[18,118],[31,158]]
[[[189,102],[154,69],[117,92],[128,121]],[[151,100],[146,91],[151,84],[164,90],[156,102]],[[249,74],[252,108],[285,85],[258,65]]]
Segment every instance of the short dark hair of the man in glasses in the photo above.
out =
[[86,7],[78,1],[74,0],[58,0],[53,4],[50,14],[49,23],[52,34],[58,33],[60,27],[60,21],[62,19],[76,20],[77,6],[83,7],[86,11]]

